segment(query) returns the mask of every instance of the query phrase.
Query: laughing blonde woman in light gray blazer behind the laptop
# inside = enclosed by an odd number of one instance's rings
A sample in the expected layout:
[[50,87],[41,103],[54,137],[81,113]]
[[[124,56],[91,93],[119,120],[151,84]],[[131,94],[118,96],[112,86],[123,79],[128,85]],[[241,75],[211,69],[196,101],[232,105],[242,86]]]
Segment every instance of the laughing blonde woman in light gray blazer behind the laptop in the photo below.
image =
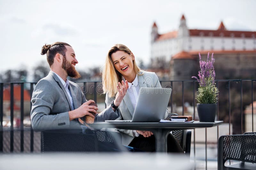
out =
[[[122,101],[116,102],[116,85],[128,82],[127,93]],[[154,72],[141,70],[132,51],[123,44],[116,44],[108,51],[106,62],[102,71],[103,91],[106,93],[106,105],[119,107],[120,117],[117,120],[132,120],[134,107],[141,87],[158,87],[161,84]],[[124,84],[123,84],[124,85]],[[168,115],[166,110],[165,117]],[[122,134],[122,144],[143,151],[155,151],[155,137],[150,131],[118,129]],[[177,140],[168,135],[168,151],[183,152]]]

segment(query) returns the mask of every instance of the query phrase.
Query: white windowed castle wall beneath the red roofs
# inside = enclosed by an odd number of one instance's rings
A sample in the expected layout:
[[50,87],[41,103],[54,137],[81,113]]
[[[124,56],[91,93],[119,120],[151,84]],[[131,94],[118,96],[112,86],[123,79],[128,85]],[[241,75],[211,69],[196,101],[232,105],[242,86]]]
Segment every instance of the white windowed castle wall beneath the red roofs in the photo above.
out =
[[181,51],[256,50],[255,38],[189,36],[156,41],[151,46],[151,57],[171,59]]

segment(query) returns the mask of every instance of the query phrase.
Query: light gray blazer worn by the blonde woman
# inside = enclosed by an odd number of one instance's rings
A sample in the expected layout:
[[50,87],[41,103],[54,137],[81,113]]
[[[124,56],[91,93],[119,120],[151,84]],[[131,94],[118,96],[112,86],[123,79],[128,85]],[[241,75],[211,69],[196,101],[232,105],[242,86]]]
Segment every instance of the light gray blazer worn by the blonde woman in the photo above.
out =
[[[138,74],[138,84],[139,87],[153,87],[153,88],[161,88],[161,84],[158,80],[156,73],[148,72],[148,71],[141,71],[140,75]],[[106,105],[109,106],[110,103],[115,100],[115,97],[108,97],[106,94]],[[125,95],[124,99],[120,103],[119,107],[120,117],[116,120],[132,120],[132,115],[134,112],[134,107],[130,100],[129,95]],[[168,116],[168,109],[166,109],[165,118]],[[129,145],[134,138],[132,134],[132,130],[124,130],[124,129],[117,129],[122,134],[122,144]]]

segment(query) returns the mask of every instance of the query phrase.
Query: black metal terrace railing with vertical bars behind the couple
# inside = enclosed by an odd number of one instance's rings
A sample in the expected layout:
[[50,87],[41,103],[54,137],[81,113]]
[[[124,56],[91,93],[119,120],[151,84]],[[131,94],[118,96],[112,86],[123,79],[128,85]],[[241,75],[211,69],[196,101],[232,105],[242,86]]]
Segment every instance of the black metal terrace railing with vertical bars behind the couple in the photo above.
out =
[[[249,92],[248,83],[250,83],[251,86],[251,102],[252,103],[252,131],[253,131],[253,99],[254,99],[254,92],[256,89],[254,88],[254,83],[256,82],[256,79],[228,79],[228,80],[216,80],[216,86],[217,88],[222,87],[222,91],[220,91],[220,94],[227,93],[228,95],[228,113],[225,116],[228,116],[228,124],[229,124],[229,135],[231,135],[231,83],[235,82],[236,84],[240,84],[240,87],[238,92],[236,92],[237,95],[240,94],[240,117],[241,117],[241,129],[240,129],[240,134],[243,133],[244,129],[244,119],[243,119],[243,92],[246,91],[246,93]],[[76,82],[77,84],[80,85],[82,91],[84,92],[84,95],[86,96],[87,99],[94,99],[95,102],[98,100],[98,95],[102,92],[101,88],[97,88],[97,85],[101,85],[100,81],[86,81],[86,82]],[[192,107],[193,107],[193,117],[194,119],[196,118],[196,89],[198,86],[198,83],[196,80],[163,80],[160,81],[161,85],[164,87],[166,85],[169,85],[172,87],[172,93],[171,93],[171,98],[169,102],[169,107],[171,107],[171,113],[173,113],[173,103],[176,103],[179,106],[182,106],[182,114],[184,115],[184,102],[185,100],[185,90],[188,90],[189,93],[191,94],[192,97]],[[179,85],[181,83],[181,86]],[[221,83],[225,83],[224,86],[220,85]],[[243,84],[246,83],[246,90],[243,90]],[[5,83],[0,83],[0,152],[3,152],[3,143],[4,143],[4,137],[3,137],[3,132],[8,129],[10,131],[10,152],[13,152],[13,145],[14,145],[14,86],[15,85],[20,85],[20,127],[18,129],[20,130],[20,152],[24,152],[24,130],[27,132],[27,128],[24,129],[24,90],[27,90],[30,94],[30,100],[32,96],[32,92],[34,89],[34,85],[36,85],[36,82],[5,82]],[[26,87],[26,88],[25,88]],[[4,90],[9,89],[10,93],[10,127],[4,128],[3,127],[3,118],[4,118]],[[236,87],[236,90],[238,87]],[[181,100],[179,97],[175,97],[174,95],[177,95],[177,92],[181,92]],[[219,96],[218,95],[218,96]],[[90,97],[90,98],[89,98]],[[105,95],[101,95],[101,98],[105,98]],[[177,100],[177,101],[174,101]],[[179,102],[180,101],[180,102]],[[219,108],[219,101],[220,101],[220,96],[218,98],[218,103],[217,103],[217,120],[220,120],[220,108]],[[238,103],[236,103],[238,105]],[[105,105],[106,106],[106,105]],[[30,110],[31,110],[32,104],[30,103]],[[223,109],[223,108],[221,108]],[[223,116],[223,115],[222,115]],[[30,126],[30,152],[34,152],[34,131],[32,127]],[[195,140],[196,132],[194,130],[194,159],[196,158],[196,140]],[[219,138],[219,127],[217,127],[217,141]],[[207,129],[205,128],[205,166],[207,169]],[[217,145],[217,143],[216,143]],[[16,151],[17,152],[17,151]]]

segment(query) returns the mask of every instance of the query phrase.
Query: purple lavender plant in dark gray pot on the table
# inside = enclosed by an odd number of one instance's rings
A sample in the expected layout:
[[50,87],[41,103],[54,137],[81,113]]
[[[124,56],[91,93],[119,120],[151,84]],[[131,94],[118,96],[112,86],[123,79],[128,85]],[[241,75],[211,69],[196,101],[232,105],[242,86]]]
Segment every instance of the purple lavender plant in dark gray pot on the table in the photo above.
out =
[[213,63],[215,59],[209,59],[210,53],[208,53],[207,60],[202,61],[201,55],[199,53],[200,71],[198,72],[198,77],[196,78],[199,83],[198,92],[196,95],[197,100],[197,113],[200,122],[214,122],[216,111],[217,111],[217,101],[218,101],[218,88],[215,87],[215,71]]

